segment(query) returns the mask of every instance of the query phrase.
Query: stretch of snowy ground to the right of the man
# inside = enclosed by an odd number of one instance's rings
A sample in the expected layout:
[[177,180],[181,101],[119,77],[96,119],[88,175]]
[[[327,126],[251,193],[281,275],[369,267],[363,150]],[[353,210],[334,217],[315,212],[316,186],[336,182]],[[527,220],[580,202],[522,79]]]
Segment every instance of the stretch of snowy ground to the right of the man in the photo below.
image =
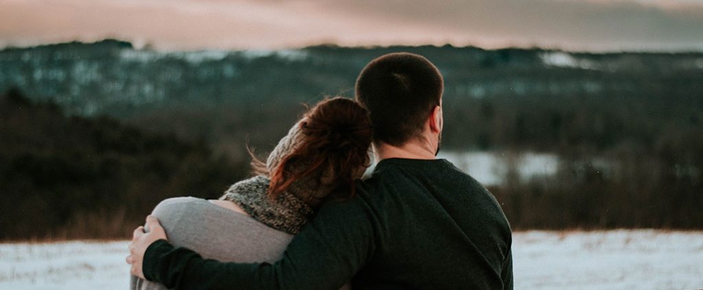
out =
[[515,289],[703,289],[703,232],[513,234]]

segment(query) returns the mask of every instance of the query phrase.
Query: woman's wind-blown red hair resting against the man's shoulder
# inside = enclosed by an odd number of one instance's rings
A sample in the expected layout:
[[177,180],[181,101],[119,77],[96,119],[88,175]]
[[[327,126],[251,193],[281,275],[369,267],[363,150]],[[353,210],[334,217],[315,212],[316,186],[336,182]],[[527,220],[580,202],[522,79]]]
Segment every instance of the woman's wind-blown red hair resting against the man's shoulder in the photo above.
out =
[[[317,103],[303,118],[302,141],[272,169],[269,195],[276,198],[295,181],[314,176],[320,178],[317,184],[337,188],[333,190],[336,195],[354,196],[354,180],[370,162],[373,130],[368,111],[354,100],[336,97]],[[327,183],[321,180],[325,173],[331,176]],[[299,198],[305,202],[311,199]]]

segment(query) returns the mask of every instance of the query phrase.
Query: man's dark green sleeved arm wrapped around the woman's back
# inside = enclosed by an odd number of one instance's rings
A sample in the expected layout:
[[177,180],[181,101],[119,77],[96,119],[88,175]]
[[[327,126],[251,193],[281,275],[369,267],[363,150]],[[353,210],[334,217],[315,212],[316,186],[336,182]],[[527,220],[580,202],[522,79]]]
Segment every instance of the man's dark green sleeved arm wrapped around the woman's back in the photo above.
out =
[[338,289],[373,253],[370,211],[359,197],[329,202],[274,263],[221,263],[165,240],[143,261],[147,279],[177,289]]

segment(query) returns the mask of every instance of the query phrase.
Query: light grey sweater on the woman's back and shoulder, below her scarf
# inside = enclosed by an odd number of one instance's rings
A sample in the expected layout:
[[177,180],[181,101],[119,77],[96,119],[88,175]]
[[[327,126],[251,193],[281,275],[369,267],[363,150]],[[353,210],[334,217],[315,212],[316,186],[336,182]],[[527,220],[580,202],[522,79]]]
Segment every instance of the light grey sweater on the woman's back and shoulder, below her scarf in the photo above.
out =
[[[195,197],[166,199],[152,214],[164,227],[169,242],[219,261],[275,262],[293,237],[249,216]],[[167,288],[132,276],[129,289]]]

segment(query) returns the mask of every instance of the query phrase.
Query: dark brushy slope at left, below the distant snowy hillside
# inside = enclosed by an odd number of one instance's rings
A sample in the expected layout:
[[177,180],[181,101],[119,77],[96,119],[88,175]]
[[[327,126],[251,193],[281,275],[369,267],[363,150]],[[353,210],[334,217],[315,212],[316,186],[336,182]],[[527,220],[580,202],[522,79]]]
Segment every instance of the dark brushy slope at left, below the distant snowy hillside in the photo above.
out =
[[0,239],[124,238],[162,199],[217,198],[247,164],[204,143],[0,96]]

